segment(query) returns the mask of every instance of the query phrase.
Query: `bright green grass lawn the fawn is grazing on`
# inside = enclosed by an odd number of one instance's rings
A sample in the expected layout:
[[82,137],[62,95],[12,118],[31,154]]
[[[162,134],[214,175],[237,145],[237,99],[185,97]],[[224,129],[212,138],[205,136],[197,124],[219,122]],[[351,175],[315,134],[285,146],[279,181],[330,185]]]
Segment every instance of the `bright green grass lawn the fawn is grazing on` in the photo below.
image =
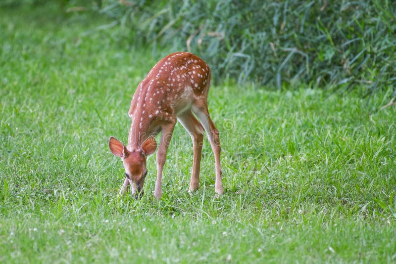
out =
[[115,41],[96,30],[103,22],[0,10],[1,263],[395,262],[386,91],[367,104],[353,92],[212,87],[224,195],[207,140],[201,186],[188,194],[192,143],[177,125],[162,199],[154,156],[143,199],[120,198],[108,138],[126,141],[134,89],[164,54]]

